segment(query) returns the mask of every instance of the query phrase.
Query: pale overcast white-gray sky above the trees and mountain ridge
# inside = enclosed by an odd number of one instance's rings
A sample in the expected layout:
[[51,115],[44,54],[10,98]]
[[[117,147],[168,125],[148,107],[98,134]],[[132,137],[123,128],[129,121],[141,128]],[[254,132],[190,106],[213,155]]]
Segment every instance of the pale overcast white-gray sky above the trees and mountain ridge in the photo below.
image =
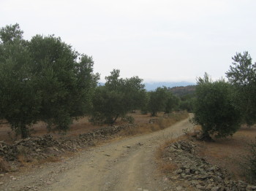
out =
[[225,77],[236,52],[256,57],[255,0],[0,0],[0,26],[55,34],[94,58],[102,79]]

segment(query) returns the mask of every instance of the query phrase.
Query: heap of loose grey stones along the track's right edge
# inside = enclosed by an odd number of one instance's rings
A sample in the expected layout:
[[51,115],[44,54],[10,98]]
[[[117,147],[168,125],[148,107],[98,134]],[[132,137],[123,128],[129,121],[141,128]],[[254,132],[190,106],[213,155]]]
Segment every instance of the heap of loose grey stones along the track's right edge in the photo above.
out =
[[[188,187],[195,187],[196,190],[256,190],[256,186],[246,182],[233,181],[225,170],[195,155],[195,150],[196,144],[188,140],[177,141],[166,148],[165,160],[178,165],[170,179],[186,182]],[[179,189],[184,190],[180,186]]]

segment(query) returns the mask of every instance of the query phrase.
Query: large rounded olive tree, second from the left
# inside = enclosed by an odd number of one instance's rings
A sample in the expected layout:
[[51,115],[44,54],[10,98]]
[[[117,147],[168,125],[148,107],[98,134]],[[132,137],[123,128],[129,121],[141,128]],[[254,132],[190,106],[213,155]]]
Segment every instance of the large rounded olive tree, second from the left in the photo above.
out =
[[41,120],[48,122],[49,129],[57,125],[67,130],[72,117],[86,114],[91,107],[98,79],[92,74],[94,62],[55,36],[34,36],[29,50],[42,93]]

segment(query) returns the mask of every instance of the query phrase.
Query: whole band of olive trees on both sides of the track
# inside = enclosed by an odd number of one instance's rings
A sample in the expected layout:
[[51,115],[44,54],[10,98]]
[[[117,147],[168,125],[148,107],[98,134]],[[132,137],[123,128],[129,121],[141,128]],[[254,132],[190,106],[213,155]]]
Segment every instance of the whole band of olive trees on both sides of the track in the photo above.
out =
[[93,58],[61,38],[25,40],[18,24],[0,29],[0,117],[22,138],[38,121],[49,130],[68,130],[72,120],[87,115],[94,124],[113,125],[135,109],[151,116],[186,109],[195,113],[204,138],[230,136],[241,123],[256,121],[256,64],[248,52],[233,57],[226,76],[213,81],[205,74],[194,94],[182,96],[167,87],[147,92],[143,79],[121,78],[118,69],[99,85]]

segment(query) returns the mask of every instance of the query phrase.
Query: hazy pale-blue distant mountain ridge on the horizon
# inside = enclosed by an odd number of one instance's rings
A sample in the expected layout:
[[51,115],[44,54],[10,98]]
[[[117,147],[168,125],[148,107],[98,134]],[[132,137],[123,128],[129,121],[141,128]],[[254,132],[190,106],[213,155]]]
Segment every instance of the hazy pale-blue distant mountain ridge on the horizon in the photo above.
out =
[[188,85],[195,85],[193,82],[146,82],[145,88],[148,91],[156,90],[157,87],[181,87],[181,86],[188,86]]

